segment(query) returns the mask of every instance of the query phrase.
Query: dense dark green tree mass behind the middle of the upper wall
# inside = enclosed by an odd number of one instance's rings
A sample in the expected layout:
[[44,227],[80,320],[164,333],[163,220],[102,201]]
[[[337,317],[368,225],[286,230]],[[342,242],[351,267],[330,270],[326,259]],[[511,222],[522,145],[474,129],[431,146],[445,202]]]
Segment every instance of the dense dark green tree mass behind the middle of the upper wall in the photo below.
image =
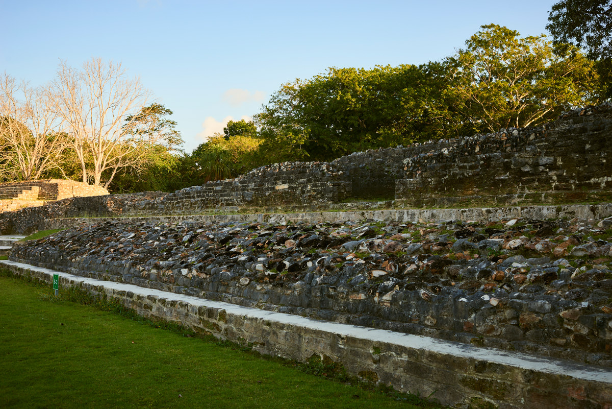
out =
[[330,68],[283,86],[256,114],[265,146],[289,159],[334,159],[423,138],[433,88],[420,67]]

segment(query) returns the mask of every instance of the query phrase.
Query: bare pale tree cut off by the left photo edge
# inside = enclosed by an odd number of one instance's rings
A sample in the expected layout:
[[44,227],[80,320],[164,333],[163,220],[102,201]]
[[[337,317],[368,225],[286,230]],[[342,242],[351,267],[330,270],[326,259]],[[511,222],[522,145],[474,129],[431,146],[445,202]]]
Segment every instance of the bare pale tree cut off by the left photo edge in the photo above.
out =
[[0,162],[5,180],[39,179],[58,167],[66,146],[61,119],[40,88],[0,77]]

